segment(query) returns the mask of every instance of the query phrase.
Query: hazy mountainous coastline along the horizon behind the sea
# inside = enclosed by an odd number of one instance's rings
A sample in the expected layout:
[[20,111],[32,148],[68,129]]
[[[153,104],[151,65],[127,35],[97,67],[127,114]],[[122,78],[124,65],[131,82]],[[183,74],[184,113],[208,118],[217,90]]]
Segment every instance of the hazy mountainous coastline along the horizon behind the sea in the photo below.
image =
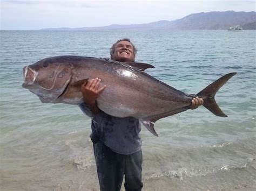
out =
[[99,27],[59,27],[46,28],[47,31],[93,31],[93,30],[226,30],[233,25],[240,25],[244,30],[256,30],[256,12],[214,11],[193,13],[177,20],[159,20],[146,24],[109,25]]

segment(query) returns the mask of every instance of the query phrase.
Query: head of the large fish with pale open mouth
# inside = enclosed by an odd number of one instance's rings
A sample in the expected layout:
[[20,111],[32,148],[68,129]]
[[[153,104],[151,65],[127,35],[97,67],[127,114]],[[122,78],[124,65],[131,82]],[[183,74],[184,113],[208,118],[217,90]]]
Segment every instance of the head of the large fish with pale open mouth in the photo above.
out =
[[40,60],[23,68],[23,88],[36,94],[43,103],[56,103],[71,80],[71,66],[54,58]]

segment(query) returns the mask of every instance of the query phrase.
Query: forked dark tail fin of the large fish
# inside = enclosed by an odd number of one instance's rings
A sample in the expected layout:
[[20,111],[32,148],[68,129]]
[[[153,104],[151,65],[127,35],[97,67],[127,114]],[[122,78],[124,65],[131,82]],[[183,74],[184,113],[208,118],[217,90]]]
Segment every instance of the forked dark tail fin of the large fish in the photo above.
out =
[[233,77],[236,72],[226,74],[222,77],[220,77],[215,82],[211,83],[209,86],[207,86],[205,89],[201,90],[197,95],[202,97],[204,100],[204,107],[210,110],[214,115],[220,116],[220,117],[227,117],[226,114],[224,114],[223,111],[219,108],[218,104],[215,102],[214,96],[217,93],[217,91],[229,80],[231,77]]

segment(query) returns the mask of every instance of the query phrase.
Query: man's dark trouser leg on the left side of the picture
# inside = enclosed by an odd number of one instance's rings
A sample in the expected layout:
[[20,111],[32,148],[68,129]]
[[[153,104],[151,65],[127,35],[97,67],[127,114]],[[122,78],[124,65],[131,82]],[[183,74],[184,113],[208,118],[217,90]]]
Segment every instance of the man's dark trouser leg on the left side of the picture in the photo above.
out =
[[98,141],[93,144],[101,191],[119,191],[124,177],[125,156]]

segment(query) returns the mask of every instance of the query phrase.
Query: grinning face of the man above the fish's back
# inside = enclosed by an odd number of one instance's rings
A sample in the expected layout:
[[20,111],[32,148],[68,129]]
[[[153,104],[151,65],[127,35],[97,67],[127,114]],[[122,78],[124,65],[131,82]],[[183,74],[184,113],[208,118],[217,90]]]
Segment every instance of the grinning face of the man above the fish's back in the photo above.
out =
[[135,54],[132,44],[125,40],[118,42],[114,48],[114,53],[111,55],[111,59],[120,62],[133,62]]

